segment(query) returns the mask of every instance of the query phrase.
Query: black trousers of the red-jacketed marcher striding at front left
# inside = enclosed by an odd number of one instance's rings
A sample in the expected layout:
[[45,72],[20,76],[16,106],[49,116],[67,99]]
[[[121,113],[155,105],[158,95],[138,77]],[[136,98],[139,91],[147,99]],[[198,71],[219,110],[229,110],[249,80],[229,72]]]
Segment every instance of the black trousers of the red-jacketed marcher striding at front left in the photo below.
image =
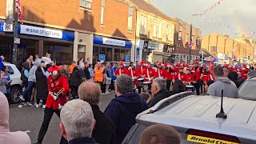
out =
[[[38,134],[38,142],[42,142],[43,138],[46,135],[46,132],[48,130],[48,126],[50,124],[50,119],[52,118],[53,114],[57,114],[58,118],[59,115],[61,113],[60,110],[53,110],[53,109],[49,109],[46,107],[45,111],[44,111],[45,115],[43,117],[43,121],[42,121],[42,126],[41,129],[39,131]],[[66,141],[66,139],[62,136],[61,142],[59,142],[60,144],[67,144],[68,142]]]

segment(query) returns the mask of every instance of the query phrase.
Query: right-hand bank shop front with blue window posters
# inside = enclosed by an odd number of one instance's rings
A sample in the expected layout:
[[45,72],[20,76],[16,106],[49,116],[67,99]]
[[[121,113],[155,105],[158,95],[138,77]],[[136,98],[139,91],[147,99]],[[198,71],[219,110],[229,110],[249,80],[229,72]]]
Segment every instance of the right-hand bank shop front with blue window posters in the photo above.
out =
[[132,42],[130,41],[94,36],[93,47],[93,63],[96,63],[98,60],[105,62],[130,62],[132,47]]

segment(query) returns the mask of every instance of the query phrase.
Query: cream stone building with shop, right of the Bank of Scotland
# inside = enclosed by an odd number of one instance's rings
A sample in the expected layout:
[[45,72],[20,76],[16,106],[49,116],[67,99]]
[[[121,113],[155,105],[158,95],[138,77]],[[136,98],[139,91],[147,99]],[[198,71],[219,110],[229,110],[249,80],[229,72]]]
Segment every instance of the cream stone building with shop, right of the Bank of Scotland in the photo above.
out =
[[173,19],[163,14],[150,1],[129,0],[136,7],[136,60],[170,62],[170,52],[164,47],[174,46]]

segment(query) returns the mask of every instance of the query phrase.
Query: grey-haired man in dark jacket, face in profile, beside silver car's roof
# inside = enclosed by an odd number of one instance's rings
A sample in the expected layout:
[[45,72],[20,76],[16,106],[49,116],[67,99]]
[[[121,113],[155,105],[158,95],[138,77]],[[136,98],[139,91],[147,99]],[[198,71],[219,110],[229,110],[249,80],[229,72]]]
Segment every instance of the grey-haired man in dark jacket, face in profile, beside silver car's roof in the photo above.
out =
[[172,95],[172,92],[170,90],[166,89],[166,80],[163,78],[155,78],[152,82],[151,86],[151,92],[153,98],[149,102],[149,107],[154,106],[159,101],[161,101],[164,98],[168,98],[170,95]]

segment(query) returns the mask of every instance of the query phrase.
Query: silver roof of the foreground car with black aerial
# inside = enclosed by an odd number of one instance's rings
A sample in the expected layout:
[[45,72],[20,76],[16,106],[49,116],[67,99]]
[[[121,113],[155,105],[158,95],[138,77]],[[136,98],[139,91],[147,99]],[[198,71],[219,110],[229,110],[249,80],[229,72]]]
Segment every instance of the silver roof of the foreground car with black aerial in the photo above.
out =
[[[177,94],[162,100],[162,104]],[[221,98],[188,95],[158,110],[161,102],[137,117],[138,123],[152,122],[183,129],[206,130],[230,134],[239,138],[256,139],[256,102],[240,98],[223,98],[226,120],[216,118]]]

